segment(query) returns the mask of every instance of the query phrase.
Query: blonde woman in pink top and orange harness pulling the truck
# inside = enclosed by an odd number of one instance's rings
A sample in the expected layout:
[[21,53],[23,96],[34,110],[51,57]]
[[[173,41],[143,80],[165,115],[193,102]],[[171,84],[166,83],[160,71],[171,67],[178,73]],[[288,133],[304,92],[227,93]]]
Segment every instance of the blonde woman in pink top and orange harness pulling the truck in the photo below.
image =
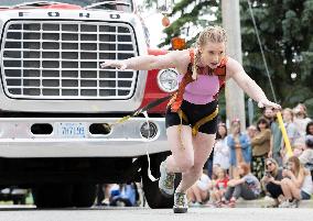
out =
[[[105,60],[101,67],[119,69],[164,69],[175,67],[180,87],[171,99],[165,115],[170,155],[160,165],[160,190],[174,194],[174,173],[182,173],[182,181],[174,195],[174,212],[186,212],[186,190],[199,178],[209,156],[217,130],[217,95],[225,78],[233,78],[258,102],[259,107],[280,106],[269,101],[261,88],[246,74],[242,66],[226,56],[226,33],[219,26],[208,26],[196,41],[196,47],[170,52],[165,55],[142,55],[126,60]],[[218,77],[219,76],[219,77]],[[184,118],[186,117],[186,118]],[[197,122],[207,117],[197,129]]]

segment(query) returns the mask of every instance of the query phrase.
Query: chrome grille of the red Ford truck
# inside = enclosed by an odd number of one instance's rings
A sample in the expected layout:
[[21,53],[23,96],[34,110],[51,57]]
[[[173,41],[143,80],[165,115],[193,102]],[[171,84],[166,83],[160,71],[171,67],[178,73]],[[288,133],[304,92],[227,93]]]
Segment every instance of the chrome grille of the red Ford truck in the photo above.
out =
[[128,99],[138,71],[100,69],[99,63],[136,55],[128,24],[11,21],[0,55],[4,90],[12,98]]

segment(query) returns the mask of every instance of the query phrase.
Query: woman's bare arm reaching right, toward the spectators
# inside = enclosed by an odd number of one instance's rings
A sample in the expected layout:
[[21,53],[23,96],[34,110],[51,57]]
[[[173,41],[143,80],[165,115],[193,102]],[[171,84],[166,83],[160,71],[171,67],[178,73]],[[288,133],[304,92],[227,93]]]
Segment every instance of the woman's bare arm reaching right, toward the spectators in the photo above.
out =
[[247,75],[242,66],[231,57],[228,57],[226,71],[228,77],[231,77],[250,98],[258,102],[259,108],[281,109],[278,103],[268,100],[262,89]]

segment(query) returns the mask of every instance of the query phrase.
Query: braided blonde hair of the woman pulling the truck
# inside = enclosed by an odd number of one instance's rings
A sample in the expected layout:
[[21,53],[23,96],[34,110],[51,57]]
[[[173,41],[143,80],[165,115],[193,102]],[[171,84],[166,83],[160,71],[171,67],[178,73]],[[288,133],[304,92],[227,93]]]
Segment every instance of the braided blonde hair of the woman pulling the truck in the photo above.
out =
[[[205,45],[207,42],[224,43],[226,41],[227,41],[226,31],[222,26],[207,26],[199,33],[196,41],[196,47],[199,48],[201,46]],[[199,63],[199,59],[201,59],[201,52],[197,49],[193,64],[192,78],[194,80],[197,78],[198,67],[196,64]]]

